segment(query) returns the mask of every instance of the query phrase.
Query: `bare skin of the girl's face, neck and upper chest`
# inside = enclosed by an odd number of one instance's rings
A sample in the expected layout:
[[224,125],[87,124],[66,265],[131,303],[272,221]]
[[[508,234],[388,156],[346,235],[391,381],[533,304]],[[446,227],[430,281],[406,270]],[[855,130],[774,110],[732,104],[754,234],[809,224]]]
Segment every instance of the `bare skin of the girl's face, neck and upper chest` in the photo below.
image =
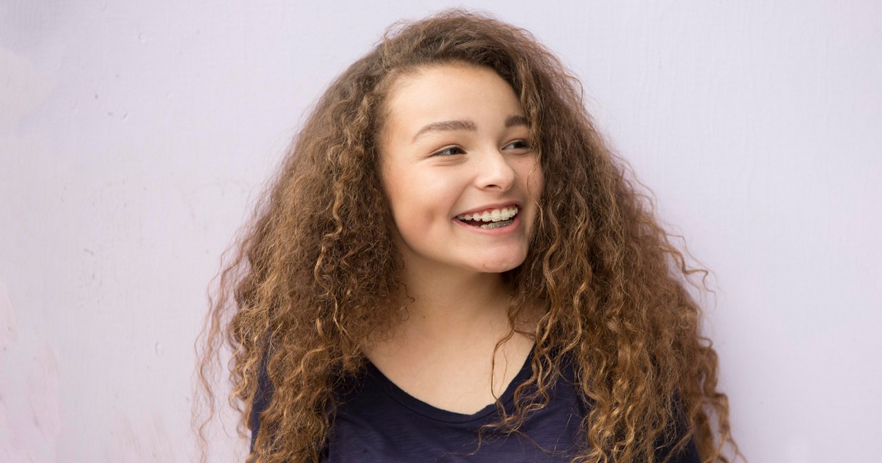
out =
[[[493,347],[509,330],[500,273],[527,256],[542,168],[517,95],[490,68],[424,67],[393,84],[385,108],[383,183],[415,302],[392,339],[366,354],[417,399],[475,413],[505,391],[533,345],[516,334],[497,352],[497,369],[490,368]],[[464,123],[437,125],[449,121]],[[512,203],[519,205],[518,223],[501,234],[456,219]]]

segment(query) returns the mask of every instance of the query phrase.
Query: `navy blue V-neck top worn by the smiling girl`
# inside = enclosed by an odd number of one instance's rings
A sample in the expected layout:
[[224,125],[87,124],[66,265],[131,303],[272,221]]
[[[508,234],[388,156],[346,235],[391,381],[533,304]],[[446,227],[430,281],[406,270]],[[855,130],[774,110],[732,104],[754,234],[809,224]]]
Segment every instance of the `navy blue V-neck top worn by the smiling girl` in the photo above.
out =
[[[514,390],[532,374],[532,352],[500,397],[506,412],[514,410]],[[484,431],[478,446],[477,430],[497,422],[496,404],[475,414],[459,414],[433,407],[407,394],[372,363],[340,400],[325,449],[325,463],[342,462],[569,462],[582,442],[579,424],[586,406],[573,386],[574,374],[564,364],[562,378],[550,393],[549,404],[527,416],[520,433],[508,436]],[[268,381],[251,415],[251,446],[259,427],[258,414],[269,398]],[[475,452],[477,451],[477,452]],[[662,449],[662,457],[669,449]],[[671,463],[699,463],[690,442]]]

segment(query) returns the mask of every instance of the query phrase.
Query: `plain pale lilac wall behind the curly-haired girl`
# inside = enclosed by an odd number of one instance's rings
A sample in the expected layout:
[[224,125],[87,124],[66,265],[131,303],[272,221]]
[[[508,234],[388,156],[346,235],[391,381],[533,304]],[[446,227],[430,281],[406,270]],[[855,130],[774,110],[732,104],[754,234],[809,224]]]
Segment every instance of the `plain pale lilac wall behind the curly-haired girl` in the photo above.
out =
[[[451,5],[0,2],[0,460],[191,461],[221,252],[331,79]],[[572,67],[714,272],[749,459],[878,461],[882,3],[468,5]]]

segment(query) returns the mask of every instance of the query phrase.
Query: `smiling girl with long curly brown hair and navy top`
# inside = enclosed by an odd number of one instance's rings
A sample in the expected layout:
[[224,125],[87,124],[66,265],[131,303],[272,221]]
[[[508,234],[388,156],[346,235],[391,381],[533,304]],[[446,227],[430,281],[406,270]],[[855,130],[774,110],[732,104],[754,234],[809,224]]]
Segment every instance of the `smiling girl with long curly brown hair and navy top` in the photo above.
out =
[[701,271],[625,166],[527,32],[387,34],[222,273],[200,372],[226,340],[250,461],[729,461]]

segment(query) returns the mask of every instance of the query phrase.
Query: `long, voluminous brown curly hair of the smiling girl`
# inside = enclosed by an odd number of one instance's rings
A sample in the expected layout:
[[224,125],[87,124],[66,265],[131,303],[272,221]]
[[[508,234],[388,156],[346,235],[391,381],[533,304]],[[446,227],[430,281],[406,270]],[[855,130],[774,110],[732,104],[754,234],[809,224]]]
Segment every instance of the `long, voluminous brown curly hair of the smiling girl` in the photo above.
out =
[[[527,31],[463,10],[392,26],[333,81],[296,136],[211,292],[196,343],[209,411],[194,418],[203,450],[216,412],[211,384],[228,348],[228,402],[241,413],[241,436],[261,369],[273,386],[250,460],[321,458],[341,379],[363,371],[363,341],[400,320],[392,301],[406,290],[378,168],[384,103],[397,78],[437,63],[486,66],[512,86],[546,179],[527,258],[503,274],[512,326],[528,302],[545,305],[529,333],[534,373],[518,387],[514,413],[502,410],[488,427],[516,431],[544,407],[567,355],[591,404],[573,461],[654,461],[660,443],[680,449],[690,438],[705,462],[728,462],[727,443],[737,456],[717,355],[685,289],[693,273],[706,288],[707,271],[686,265],[670,243],[653,200],[606,146],[557,57]],[[671,432],[677,421],[685,434]]]

